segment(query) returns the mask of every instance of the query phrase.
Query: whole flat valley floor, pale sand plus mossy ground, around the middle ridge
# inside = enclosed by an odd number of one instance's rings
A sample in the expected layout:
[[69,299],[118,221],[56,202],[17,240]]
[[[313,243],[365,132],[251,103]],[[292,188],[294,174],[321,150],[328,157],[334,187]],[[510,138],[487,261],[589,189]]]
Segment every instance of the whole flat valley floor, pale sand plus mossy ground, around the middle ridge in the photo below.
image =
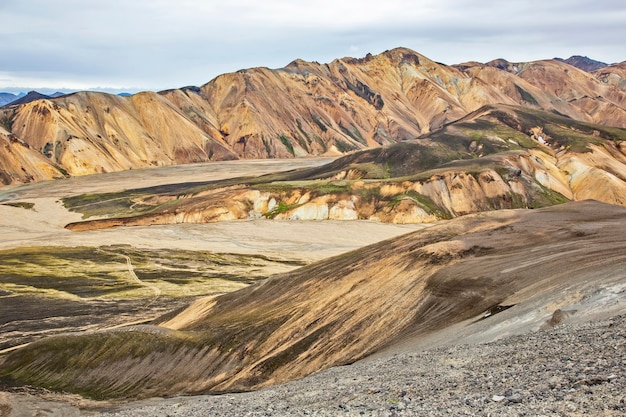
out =
[[[5,188],[0,191],[0,352],[44,336],[149,322],[199,296],[234,291],[420,227],[261,218],[75,233],[64,226],[80,216],[57,199],[326,162],[232,161]],[[336,238],[328,241],[329,235]]]

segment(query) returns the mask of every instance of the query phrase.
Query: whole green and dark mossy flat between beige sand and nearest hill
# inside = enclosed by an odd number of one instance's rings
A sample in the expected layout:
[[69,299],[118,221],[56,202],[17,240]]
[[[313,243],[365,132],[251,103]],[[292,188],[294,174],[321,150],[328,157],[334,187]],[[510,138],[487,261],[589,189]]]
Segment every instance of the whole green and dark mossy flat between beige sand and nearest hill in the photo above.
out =
[[21,247],[0,251],[0,351],[68,330],[154,319],[298,260],[208,251]]

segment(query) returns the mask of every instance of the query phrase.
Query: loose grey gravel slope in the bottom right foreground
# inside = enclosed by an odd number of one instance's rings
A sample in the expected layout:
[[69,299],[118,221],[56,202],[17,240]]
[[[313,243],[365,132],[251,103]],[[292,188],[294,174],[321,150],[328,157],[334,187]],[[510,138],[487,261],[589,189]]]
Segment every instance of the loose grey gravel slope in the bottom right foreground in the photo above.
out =
[[154,399],[99,415],[617,417],[626,412],[624,340],[624,316],[607,317],[388,355],[254,393]]

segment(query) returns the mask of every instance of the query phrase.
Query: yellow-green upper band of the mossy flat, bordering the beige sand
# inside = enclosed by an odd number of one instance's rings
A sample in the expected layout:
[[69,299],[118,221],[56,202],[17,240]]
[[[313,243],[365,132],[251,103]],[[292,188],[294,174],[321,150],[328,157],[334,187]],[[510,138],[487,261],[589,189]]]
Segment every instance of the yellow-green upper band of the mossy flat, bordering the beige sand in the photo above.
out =
[[[180,297],[238,289],[267,277],[268,268],[297,260],[131,246],[24,247],[0,251],[0,289],[53,298]],[[135,278],[133,274],[137,277]]]

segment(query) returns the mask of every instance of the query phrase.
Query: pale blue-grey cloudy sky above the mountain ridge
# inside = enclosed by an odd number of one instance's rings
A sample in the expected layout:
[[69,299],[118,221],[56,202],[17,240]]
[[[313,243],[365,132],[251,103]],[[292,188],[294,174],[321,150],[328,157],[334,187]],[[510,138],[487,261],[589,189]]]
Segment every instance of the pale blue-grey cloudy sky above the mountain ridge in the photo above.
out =
[[0,91],[136,92],[399,46],[446,64],[621,62],[626,1],[0,0],[0,34]]

